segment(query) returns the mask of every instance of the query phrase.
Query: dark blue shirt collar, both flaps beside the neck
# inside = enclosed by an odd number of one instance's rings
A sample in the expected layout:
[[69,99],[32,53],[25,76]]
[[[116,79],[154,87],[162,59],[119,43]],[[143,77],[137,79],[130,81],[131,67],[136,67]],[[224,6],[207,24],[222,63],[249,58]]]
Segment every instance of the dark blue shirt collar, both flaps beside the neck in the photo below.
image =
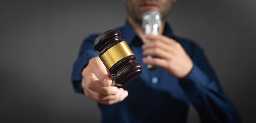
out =
[[[125,39],[127,44],[130,45],[134,39],[134,37],[137,36],[136,32],[134,29],[131,27],[130,23],[126,19],[125,26],[123,27],[121,31],[122,39]],[[169,24],[166,22],[164,26],[164,32],[163,35],[173,38],[173,31],[172,28],[170,28]]]

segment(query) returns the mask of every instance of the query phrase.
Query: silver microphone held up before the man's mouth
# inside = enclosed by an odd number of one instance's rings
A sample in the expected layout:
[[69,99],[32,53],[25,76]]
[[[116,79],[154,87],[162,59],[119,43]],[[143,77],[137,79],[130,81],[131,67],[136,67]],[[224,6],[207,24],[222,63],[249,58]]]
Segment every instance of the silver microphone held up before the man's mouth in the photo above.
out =
[[[161,14],[158,11],[147,10],[142,16],[142,27],[145,34],[158,35],[158,29],[161,27],[161,24]],[[146,43],[147,42],[150,42],[150,40],[146,40]],[[153,57],[148,55],[147,58]],[[155,70],[156,67],[148,64],[147,69]]]

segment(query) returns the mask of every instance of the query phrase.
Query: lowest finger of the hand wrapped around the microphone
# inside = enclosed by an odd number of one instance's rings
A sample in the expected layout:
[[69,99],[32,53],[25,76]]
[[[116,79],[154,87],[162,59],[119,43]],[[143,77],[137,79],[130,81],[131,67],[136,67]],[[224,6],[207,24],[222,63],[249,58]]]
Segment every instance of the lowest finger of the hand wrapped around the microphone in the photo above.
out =
[[145,64],[159,66],[164,69],[168,69],[168,66],[169,66],[167,60],[159,59],[159,58],[142,58],[142,62]]

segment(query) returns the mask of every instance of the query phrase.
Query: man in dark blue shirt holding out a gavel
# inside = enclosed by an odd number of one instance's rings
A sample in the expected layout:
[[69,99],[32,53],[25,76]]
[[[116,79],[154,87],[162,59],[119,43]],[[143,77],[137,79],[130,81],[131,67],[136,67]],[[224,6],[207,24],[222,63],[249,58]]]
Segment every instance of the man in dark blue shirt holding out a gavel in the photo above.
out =
[[[195,43],[176,37],[166,23],[175,1],[125,0],[127,22],[116,30],[144,68],[128,85],[110,86],[109,73],[93,50],[98,35],[84,41],[72,81],[76,92],[99,103],[103,122],[186,122],[190,103],[202,122],[240,122],[203,51]],[[144,35],[142,29],[142,15],[150,9],[162,16],[158,36]],[[146,39],[151,42],[144,44]],[[149,71],[147,64],[157,69]]]

